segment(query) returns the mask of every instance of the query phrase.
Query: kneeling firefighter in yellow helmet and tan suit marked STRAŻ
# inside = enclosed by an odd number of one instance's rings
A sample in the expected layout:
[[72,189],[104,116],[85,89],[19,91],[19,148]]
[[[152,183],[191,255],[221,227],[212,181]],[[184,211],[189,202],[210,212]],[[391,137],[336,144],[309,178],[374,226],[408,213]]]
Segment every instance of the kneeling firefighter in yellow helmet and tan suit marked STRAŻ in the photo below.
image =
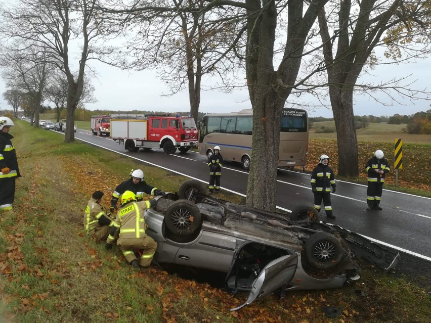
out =
[[[157,249],[157,243],[145,234],[147,225],[144,211],[156,205],[156,200],[137,202],[135,193],[125,191],[121,196],[121,208],[106,239],[106,249],[112,249],[115,231],[119,228],[117,245],[127,262],[135,268],[149,267]],[[135,251],[138,250],[142,251],[139,262],[135,255]]]

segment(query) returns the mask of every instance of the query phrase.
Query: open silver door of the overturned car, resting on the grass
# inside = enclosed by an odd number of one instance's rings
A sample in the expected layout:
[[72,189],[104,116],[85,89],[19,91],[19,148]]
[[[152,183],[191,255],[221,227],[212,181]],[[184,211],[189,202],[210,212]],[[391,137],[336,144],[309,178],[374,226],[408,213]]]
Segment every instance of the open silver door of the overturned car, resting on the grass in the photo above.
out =
[[232,308],[236,311],[251,304],[257,298],[273,294],[289,283],[296,272],[297,254],[286,255],[271,261],[254,280],[247,301],[241,306]]

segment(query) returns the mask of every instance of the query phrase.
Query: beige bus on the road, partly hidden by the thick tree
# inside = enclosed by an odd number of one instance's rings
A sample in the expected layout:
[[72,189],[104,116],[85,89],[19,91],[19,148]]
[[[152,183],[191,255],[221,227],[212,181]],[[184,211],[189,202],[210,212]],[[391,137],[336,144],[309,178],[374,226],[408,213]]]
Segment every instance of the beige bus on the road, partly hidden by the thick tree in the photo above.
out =
[[[250,168],[252,109],[235,113],[207,114],[199,127],[199,153],[213,154],[220,146],[224,161],[236,161],[244,169]],[[278,167],[303,166],[307,162],[308,116],[301,109],[283,109],[280,121],[280,149]]]

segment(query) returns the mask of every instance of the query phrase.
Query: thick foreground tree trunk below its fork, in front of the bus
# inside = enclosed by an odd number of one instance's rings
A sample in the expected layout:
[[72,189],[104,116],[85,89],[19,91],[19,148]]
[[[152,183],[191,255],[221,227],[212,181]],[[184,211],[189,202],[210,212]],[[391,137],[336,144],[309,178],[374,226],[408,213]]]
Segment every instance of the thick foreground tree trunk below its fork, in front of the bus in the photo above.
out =
[[250,207],[275,211],[280,112],[284,101],[281,102],[272,89],[260,88],[254,91],[254,95],[253,139],[246,203]]

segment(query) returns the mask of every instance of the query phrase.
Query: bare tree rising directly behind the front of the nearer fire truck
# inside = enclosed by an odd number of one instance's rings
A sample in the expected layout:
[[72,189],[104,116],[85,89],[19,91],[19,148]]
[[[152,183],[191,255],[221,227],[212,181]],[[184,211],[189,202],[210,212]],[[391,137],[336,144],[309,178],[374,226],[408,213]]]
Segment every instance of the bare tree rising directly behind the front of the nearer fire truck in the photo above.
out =
[[[152,11],[137,8],[140,1],[132,1],[128,7],[117,1],[108,3],[111,7],[104,9],[107,14],[101,23],[107,27],[119,24],[127,31],[128,40],[120,50],[101,60],[122,69],[156,69],[170,90],[166,96],[187,88],[195,121],[204,76],[218,75],[224,90],[232,88],[230,76],[243,62],[238,57],[242,56],[245,31],[244,19],[235,7],[215,7],[207,12],[204,0],[165,0]],[[235,16],[237,19],[232,19]]]

